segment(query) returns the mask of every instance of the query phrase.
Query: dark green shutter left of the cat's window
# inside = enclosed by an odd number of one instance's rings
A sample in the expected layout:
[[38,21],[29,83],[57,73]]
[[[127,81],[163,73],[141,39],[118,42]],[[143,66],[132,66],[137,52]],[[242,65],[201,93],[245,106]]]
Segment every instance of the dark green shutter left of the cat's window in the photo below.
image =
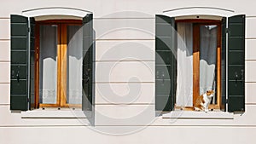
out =
[[155,110],[172,111],[176,95],[175,20],[155,15]]

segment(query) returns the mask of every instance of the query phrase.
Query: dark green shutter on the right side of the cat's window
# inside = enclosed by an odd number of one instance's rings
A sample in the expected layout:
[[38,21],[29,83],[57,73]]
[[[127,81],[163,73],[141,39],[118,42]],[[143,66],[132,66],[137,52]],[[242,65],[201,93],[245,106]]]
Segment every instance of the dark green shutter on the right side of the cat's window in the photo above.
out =
[[245,15],[228,19],[228,111],[245,111]]

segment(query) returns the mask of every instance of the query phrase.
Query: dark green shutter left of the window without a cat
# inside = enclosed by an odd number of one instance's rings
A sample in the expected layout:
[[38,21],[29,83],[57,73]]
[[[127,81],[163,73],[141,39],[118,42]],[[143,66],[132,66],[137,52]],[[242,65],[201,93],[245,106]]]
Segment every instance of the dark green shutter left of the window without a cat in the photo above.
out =
[[10,109],[28,109],[28,19],[11,15]]

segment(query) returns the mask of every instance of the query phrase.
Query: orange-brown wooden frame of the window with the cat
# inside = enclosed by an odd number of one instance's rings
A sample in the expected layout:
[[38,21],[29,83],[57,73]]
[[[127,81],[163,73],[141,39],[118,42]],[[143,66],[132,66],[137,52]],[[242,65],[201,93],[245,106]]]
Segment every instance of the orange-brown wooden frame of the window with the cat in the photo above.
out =
[[[200,95],[200,26],[201,25],[217,25],[217,48],[216,48],[216,62],[217,62],[217,104],[210,104],[209,109],[220,109],[221,105],[221,20],[175,20],[175,23],[192,23],[193,24],[193,106],[197,97]],[[175,109],[182,107],[176,106]],[[183,110],[194,111],[193,107],[183,107]]]

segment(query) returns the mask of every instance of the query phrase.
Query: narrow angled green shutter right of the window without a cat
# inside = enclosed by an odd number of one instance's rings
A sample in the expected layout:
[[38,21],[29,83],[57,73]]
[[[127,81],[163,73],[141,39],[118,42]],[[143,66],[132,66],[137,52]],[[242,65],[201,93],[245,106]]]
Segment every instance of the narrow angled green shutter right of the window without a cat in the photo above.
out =
[[[83,19],[83,97],[82,110],[92,112],[94,107],[94,43],[92,14]],[[85,113],[86,114],[86,113]]]

